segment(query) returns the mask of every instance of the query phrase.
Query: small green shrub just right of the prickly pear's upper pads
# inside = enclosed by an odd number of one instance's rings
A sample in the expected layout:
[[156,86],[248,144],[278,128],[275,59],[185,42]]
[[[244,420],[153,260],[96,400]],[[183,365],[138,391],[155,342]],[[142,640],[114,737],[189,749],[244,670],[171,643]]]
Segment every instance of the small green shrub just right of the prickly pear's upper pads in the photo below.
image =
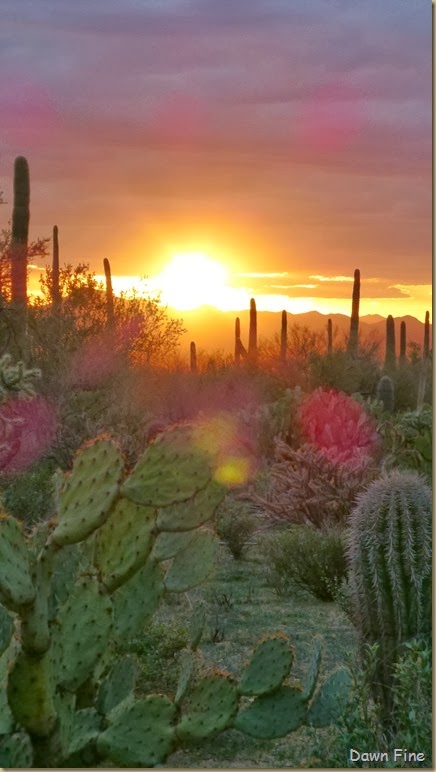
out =
[[256,530],[257,522],[245,502],[227,496],[215,515],[215,530],[235,560],[240,560]]

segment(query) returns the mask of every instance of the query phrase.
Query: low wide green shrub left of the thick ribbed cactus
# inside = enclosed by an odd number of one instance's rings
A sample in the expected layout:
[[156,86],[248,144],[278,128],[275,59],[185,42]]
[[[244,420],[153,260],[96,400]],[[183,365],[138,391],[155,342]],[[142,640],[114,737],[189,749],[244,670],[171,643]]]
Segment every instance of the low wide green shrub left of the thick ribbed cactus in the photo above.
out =
[[342,529],[291,526],[264,536],[261,544],[268,582],[278,594],[300,587],[319,600],[334,600],[347,574]]

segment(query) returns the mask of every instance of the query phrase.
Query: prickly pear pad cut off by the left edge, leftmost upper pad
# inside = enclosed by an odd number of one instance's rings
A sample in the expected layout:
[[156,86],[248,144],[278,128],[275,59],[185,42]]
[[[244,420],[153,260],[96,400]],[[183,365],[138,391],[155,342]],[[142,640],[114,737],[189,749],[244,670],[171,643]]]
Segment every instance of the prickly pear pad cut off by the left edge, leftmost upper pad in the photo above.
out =
[[0,599],[12,610],[32,603],[35,589],[26,539],[13,517],[0,515]]

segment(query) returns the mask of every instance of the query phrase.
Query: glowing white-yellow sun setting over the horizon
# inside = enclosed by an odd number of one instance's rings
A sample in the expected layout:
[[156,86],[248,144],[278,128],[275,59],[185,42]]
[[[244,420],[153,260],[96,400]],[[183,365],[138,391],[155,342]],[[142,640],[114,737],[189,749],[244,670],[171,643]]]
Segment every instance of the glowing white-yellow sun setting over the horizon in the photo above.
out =
[[228,292],[228,269],[203,252],[175,255],[153,285],[161,302],[180,311],[202,305],[220,307]]

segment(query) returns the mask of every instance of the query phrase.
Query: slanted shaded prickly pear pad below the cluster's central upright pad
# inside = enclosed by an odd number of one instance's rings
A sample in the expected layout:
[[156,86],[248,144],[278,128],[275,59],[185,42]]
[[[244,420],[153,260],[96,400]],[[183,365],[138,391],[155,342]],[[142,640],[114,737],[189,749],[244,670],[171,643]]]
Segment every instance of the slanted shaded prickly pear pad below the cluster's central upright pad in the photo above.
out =
[[163,592],[161,565],[150,558],[126,584],[112,595],[114,633],[118,640],[139,635],[156,611]]

